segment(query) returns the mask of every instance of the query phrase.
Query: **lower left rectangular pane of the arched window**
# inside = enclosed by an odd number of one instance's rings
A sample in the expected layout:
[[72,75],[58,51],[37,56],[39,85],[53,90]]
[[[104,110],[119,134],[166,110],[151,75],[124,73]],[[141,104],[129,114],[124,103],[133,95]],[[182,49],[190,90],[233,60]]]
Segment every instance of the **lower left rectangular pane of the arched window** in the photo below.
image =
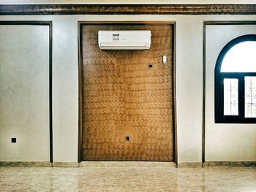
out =
[[224,115],[238,115],[238,79],[224,79]]

